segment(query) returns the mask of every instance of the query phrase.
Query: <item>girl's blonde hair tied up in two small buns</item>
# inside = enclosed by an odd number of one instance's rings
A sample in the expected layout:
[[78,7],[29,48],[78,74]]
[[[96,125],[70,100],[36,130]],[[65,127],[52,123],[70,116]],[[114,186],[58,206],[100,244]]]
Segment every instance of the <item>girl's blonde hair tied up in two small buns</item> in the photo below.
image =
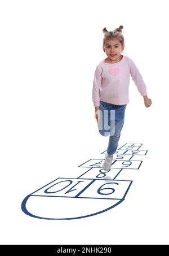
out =
[[122,34],[123,26],[119,26],[119,28],[115,28],[114,31],[107,31],[106,28],[103,29],[104,38],[103,38],[103,47],[106,40],[112,40],[116,38],[121,42],[122,45],[124,45],[124,37]]

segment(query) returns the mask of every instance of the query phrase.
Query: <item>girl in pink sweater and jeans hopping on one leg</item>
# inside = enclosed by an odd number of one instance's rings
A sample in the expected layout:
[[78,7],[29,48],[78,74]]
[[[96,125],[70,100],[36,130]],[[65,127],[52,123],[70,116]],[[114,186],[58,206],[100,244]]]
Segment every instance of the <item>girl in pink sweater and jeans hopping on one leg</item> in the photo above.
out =
[[152,104],[151,99],[147,96],[143,77],[135,63],[129,57],[121,54],[124,50],[122,29],[123,26],[110,32],[106,28],[103,29],[103,50],[107,58],[96,67],[92,90],[99,132],[103,136],[110,136],[102,165],[105,171],[109,171],[112,165],[113,154],[117,150],[124,124],[124,113],[129,102],[130,75],[144,98],[144,105],[149,107]]

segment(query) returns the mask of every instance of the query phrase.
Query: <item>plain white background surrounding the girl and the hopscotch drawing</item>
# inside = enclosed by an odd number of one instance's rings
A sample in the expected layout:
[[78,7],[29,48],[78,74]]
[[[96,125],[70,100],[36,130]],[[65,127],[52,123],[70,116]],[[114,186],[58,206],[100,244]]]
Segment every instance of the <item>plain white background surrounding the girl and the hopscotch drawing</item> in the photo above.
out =
[[[168,1],[1,1],[1,244],[168,244]],[[92,82],[103,33],[123,25],[124,54],[148,87],[131,80],[119,146],[148,155],[126,200],[79,220],[41,220],[24,197],[106,150]]]

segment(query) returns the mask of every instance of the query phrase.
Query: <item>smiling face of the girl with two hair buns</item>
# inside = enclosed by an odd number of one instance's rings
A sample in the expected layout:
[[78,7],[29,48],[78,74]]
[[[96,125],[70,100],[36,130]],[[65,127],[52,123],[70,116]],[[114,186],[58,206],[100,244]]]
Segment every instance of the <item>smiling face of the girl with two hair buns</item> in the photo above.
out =
[[111,63],[117,63],[121,59],[121,53],[124,50],[124,45],[115,38],[112,40],[105,40],[103,50]]

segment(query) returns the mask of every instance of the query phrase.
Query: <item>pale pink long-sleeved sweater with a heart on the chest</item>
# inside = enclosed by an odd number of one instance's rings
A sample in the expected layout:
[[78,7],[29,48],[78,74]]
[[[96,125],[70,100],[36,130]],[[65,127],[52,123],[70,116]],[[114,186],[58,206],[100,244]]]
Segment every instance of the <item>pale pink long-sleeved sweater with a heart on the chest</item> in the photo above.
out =
[[102,60],[96,67],[92,99],[94,106],[100,101],[114,105],[126,105],[129,102],[128,88],[130,75],[141,96],[146,96],[146,85],[132,59],[123,55],[117,63],[105,63]]

